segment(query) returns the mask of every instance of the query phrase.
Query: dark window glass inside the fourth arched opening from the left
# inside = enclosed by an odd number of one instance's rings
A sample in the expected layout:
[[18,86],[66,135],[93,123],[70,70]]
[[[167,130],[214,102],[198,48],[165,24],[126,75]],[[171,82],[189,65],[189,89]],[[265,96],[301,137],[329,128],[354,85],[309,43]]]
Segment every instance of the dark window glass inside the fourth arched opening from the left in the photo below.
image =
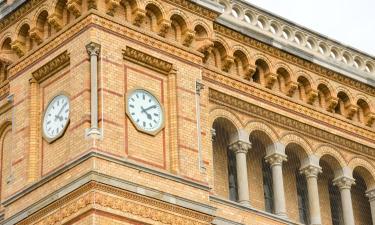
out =
[[344,219],[342,218],[340,191],[332,184],[332,182],[329,182],[328,191],[329,201],[331,204],[332,225],[344,225]]

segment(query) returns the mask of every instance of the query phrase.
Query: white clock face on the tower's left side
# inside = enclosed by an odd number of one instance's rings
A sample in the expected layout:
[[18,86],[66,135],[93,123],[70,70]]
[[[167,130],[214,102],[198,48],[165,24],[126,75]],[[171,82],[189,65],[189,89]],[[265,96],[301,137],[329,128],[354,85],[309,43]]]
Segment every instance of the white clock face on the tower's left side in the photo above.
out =
[[70,103],[65,95],[55,96],[48,104],[43,118],[43,136],[48,142],[61,137],[69,122]]

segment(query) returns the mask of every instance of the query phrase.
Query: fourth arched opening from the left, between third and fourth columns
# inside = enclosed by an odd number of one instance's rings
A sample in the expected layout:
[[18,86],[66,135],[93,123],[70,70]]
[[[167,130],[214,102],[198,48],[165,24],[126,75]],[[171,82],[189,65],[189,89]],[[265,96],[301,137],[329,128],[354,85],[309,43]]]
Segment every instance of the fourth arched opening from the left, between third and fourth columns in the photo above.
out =
[[322,224],[344,225],[340,190],[333,184],[341,166],[331,155],[321,157],[319,164],[323,171],[318,177]]

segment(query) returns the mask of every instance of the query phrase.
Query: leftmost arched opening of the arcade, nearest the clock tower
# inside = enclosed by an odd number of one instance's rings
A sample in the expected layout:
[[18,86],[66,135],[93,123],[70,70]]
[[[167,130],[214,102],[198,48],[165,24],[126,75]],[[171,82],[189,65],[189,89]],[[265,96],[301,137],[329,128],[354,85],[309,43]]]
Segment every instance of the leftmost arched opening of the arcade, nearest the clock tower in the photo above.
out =
[[237,129],[225,118],[217,118],[213,129],[216,132],[213,141],[214,191],[221,197],[237,201],[236,158],[234,152],[228,149],[230,138],[237,134]]

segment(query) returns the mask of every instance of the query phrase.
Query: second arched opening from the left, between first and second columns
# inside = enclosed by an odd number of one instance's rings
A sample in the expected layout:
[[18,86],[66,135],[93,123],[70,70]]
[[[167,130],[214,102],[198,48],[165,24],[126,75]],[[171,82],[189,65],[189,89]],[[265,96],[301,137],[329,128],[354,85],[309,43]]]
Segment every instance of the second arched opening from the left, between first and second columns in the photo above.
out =
[[255,208],[274,213],[274,195],[270,165],[265,162],[266,148],[272,144],[271,138],[263,131],[250,133],[251,151],[248,152],[248,180],[250,202]]

